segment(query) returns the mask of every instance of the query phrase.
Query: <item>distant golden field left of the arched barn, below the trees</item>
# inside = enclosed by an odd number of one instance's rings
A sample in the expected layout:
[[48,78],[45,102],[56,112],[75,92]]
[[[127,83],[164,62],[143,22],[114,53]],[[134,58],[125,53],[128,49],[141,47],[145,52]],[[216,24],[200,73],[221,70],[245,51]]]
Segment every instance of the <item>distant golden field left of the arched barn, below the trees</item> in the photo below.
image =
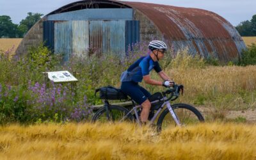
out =
[[17,49],[22,38],[0,38],[0,50],[7,51],[12,49],[14,46],[14,51]]

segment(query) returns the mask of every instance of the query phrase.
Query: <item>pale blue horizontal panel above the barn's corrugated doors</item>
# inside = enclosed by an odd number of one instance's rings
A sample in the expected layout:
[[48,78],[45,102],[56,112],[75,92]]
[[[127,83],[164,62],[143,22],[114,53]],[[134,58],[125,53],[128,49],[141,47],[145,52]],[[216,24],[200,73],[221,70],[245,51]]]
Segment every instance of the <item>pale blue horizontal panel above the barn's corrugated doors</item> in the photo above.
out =
[[132,20],[131,8],[98,8],[47,15],[47,20]]

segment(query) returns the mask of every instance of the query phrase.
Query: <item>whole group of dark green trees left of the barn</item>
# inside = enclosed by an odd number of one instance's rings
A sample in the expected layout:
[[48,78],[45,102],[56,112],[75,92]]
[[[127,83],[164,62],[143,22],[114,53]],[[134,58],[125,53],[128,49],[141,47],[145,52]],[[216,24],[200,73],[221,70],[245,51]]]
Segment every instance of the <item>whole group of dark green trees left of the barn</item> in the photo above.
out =
[[41,13],[29,12],[19,24],[13,24],[8,15],[0,15],[0,38],[23,38],[29,29],[41,19]]

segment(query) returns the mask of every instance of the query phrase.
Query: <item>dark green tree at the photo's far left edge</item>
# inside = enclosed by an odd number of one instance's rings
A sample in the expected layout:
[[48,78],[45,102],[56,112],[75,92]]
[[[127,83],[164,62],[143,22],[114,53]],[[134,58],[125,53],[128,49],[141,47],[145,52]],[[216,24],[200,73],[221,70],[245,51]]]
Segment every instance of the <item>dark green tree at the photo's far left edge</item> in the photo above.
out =
[[0,38],[17,38],[19,37],[18,25],[13,24],[11,17],[8,15],[0,16]]

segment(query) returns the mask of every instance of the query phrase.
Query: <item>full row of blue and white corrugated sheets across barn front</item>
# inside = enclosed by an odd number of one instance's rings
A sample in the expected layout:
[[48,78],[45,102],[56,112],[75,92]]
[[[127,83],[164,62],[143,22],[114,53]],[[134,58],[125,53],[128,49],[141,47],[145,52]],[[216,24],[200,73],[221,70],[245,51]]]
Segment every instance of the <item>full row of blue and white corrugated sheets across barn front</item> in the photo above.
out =
[[45,21],[44,40],[55,53],[84,55],[88,48],[124,56],[128,46],[140,42],[138,20]]

